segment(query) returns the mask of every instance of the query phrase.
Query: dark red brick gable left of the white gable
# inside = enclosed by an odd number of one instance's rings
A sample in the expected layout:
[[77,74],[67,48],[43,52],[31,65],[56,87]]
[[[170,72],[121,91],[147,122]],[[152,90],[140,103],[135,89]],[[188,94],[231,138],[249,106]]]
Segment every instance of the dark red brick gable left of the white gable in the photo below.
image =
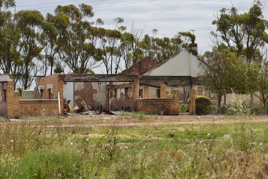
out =
[[144,57],[139,60],[129,68],[123,70],[119,74],[140,74],[143,75],[148,70],[154,68],[156,65],[160,64],[158,61],[153,59],[152,57]]

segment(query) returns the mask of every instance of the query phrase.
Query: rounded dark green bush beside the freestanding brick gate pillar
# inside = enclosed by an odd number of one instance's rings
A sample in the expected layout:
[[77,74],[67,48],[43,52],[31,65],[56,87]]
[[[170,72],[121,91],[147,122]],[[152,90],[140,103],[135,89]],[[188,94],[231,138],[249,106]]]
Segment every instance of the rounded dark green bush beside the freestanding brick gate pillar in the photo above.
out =
[[209,114],[212,101],[206,96],[196,96],[196,114]]

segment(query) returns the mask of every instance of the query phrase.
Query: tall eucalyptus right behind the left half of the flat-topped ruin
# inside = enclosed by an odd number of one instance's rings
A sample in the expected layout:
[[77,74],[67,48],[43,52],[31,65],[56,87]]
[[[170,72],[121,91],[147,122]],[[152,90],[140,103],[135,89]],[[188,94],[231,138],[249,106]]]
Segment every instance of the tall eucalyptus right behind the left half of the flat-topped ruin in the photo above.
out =
[[92,33],[93,22],[88,21],[94,16],[92,7],[86,4],[80,4],[79,8],[74,5],[59,5],[54,12],[56,16],[62,14],[69,17],[69,24],[65,28],[65,34],[63,35],[60,59],[63,59],[63,62],[71,69],[72,73],[91,73],[91,69],[100,65],[93,58],[96,38]]

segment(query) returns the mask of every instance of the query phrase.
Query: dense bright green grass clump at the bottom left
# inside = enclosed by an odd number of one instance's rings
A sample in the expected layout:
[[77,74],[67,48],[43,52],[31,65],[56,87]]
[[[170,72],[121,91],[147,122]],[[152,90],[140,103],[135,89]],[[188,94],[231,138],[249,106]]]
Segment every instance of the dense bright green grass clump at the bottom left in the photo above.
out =
[[17,178],[74,178],[79,167],[77,152],[56,148],[25,153],[16,172]]

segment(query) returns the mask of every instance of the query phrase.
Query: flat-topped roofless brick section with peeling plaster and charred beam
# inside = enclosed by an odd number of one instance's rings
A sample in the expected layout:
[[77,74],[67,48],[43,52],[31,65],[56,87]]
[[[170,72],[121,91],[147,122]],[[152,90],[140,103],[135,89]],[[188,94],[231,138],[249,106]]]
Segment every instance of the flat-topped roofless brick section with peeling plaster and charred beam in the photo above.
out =
[[[70,106],[87,105],[94,110],[134,110],[139,92],[138,74],[55,74],[37,78],[40,95],[44,99],[70,101]],[[62,106],[62,105],[61,105]]]

